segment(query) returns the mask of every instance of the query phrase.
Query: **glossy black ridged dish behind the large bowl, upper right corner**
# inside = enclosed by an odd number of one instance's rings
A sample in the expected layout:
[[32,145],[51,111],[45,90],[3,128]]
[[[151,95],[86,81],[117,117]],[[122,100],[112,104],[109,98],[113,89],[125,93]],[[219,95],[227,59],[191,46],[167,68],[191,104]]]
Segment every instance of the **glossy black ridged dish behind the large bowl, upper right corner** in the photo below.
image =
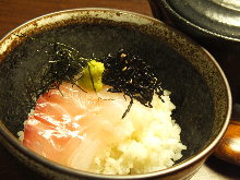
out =
[[199,40],[240,41],[240,3],[219,0],[149,0],[155,16]]

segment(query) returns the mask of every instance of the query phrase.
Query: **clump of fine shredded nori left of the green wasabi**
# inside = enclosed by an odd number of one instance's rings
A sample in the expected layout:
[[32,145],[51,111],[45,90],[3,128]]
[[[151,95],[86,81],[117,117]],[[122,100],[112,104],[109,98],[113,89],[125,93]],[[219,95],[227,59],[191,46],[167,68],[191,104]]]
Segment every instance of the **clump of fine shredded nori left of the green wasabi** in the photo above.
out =
[[82,58],[79,51],[65,44],[50,44],[50,49],[46,51],[49,56],[43,83],[46,88],[58,88],[62,82],[69,82],[74,85],[75,76],[81,77],[83,68],[87,67],[89,59]]

